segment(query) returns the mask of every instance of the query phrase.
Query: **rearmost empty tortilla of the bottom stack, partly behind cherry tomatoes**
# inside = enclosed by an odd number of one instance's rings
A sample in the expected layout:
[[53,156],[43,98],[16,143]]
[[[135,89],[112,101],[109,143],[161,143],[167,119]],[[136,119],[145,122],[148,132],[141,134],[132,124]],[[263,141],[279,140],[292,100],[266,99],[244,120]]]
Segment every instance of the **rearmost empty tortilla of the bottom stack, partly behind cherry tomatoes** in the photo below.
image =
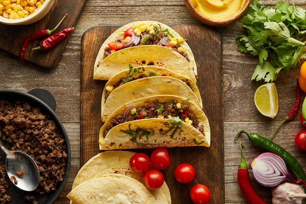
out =
[[[89,181],[95,177],[100,177],[105,174],[122,174],[130,176],[138,182],[142,181],[142,175],[135,173],[130,169],[129,161],[135,152],[132,151],[104,151],[91,158],[79,170],[78,175],[75,177],[72,184],[72,190],[78,185]],[[162,192],[161,192],[162,191]],[[150,192],[157,198],[157,200],[164,199],[165,196],[168,203],[171,203],[170,191],[164,182],[160,190]],[[164,195],[162,195],[162,193]],[[74,202],[70,202],[74,203]]]

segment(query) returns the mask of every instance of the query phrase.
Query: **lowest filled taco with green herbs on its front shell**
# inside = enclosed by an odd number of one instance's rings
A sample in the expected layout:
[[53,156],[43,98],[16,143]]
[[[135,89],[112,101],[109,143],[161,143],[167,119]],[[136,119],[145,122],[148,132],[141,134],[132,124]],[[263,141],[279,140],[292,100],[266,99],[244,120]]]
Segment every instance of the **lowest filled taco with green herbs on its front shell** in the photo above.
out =
[[155,95],[116,109],[100,129],[101,150],[210,146],[205,113],[191,100]]

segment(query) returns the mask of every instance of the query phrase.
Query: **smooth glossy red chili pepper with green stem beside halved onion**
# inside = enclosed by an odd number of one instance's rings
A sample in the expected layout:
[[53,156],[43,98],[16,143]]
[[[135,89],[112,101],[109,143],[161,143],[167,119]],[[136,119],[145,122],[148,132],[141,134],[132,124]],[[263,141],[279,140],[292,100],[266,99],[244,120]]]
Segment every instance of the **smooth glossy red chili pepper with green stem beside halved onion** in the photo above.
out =
[[241,163],[239,164],[237,179],[241,193],[249,204],[267,204],[254,190],[251,184],[250,176],[245,162],[242,143],[240,143]]

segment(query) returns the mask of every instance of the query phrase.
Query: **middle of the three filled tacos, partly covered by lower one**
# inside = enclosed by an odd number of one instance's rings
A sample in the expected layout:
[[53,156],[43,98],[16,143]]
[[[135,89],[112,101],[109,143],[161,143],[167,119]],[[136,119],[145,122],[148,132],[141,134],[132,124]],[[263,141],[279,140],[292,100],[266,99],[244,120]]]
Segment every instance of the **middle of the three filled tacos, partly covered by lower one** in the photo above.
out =
[[131,66],[106,83],[101,99],[102,120],[105,122],[113,111],[132,100],[169,94],[190,98],[202,108],[200,92],[189,79],[162,67]]

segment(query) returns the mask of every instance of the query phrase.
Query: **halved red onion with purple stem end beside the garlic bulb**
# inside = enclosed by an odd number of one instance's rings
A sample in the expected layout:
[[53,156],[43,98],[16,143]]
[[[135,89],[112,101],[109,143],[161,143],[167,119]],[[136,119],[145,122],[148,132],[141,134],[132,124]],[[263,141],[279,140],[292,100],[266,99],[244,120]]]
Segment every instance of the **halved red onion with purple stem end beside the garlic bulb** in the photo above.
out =
[[263,186],[274,187],[282,182],[290,182],[306,186],[306,182],[296,179],[288,172],[285,161],[270,152],[265,152],[251,163],[254,179]]

